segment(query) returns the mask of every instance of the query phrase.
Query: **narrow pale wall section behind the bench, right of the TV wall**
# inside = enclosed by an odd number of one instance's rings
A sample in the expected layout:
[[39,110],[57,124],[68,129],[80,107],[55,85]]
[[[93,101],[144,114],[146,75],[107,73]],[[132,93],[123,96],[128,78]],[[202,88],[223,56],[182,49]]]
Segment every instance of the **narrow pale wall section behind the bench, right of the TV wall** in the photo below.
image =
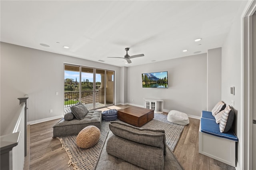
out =
[[221,47],[207,52],[207,111],[221,101]]

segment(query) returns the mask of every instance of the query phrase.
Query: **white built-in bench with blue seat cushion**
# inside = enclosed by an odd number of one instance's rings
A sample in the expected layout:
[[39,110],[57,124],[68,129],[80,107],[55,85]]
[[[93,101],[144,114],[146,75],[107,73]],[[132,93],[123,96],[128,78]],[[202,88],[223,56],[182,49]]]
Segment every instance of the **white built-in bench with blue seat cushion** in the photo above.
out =
[[238,138],[230,129],[221,133],[212,112],[202,111],[199,128],[199,153],[236,166],[236,142]]

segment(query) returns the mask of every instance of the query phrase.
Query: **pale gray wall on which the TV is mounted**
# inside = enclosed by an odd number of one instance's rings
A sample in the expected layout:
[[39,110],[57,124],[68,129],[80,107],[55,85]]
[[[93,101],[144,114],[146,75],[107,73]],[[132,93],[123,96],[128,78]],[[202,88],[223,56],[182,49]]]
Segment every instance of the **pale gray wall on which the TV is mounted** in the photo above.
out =
[[[127,102],[143,106],[143,98],[164,100],[164,110],[200,116],[206,110],[206,53],[128,67]],[[142,88],[142,73],[168,71],[168,89]]]

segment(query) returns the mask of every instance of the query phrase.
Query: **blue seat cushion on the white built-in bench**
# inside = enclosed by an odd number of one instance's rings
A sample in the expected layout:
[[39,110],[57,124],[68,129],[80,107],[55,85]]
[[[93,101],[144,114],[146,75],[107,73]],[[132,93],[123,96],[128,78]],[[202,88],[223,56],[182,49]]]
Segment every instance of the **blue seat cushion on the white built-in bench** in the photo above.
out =
[[219,125],[212,119],[201,118],[201,132],[238,142],[236,134],[231,129],[226,133],[221,133]]

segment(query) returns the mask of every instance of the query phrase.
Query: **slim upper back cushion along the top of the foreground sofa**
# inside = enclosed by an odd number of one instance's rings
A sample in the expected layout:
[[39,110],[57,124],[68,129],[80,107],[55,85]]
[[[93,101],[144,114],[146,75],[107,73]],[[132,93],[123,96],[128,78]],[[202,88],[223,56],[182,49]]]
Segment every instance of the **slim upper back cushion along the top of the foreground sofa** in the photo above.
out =
[[164,130],[154,130],[148,128],[139,128],[121,122],[110,122],[110,130],[122,138],[162,148],[166,151],[166,138]]

